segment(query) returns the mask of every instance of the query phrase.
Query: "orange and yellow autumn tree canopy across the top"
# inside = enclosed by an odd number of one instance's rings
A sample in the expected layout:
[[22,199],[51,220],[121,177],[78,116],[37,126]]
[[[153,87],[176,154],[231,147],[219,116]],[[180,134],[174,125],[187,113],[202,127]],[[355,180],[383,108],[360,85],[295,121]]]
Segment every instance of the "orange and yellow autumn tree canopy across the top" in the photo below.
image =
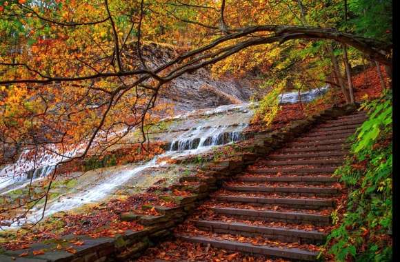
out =
[[[330,82],[350,102],[348,63],[335,67],[337,57],[392,66],[392,2],[377,2],[0,0],[0,159],[30,148],[72,161],[133,128],[144,142],[153,113],[167,110],[159,92],[205,67],[261,68],[269,85],[282,74],[294,85]],[[186,51],[154,66],[143,48],[152,42]],[[79,154],[68,157],[72,149]]]

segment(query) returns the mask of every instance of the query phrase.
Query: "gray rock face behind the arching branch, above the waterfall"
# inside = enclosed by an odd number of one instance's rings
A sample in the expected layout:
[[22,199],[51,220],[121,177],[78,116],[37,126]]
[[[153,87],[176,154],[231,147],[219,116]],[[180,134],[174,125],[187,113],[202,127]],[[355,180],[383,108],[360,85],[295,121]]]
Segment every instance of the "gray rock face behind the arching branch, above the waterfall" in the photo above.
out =
[[[134,48],[134,47],[130,47]],[[146,65],[157,68],[179,56],[177,49],[157,43],[146,43],[142,46]],[[131,54],[132,57],[132,54]],[[138,63],[137,57],[132,57]],[[210,70],[201,68],[186,73],[167,83],[161,88],[159,102],[172,103],[177,112],[214,108],[219,105],[230,105],[248,101],[252,95],[252,85],[245,79],[213,79]]]

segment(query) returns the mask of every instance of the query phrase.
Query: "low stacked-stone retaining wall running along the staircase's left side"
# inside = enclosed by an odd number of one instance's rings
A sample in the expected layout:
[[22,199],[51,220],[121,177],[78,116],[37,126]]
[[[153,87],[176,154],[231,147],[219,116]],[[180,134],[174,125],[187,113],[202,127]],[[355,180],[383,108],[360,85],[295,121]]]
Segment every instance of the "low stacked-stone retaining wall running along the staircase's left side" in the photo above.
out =
[[[144,230],[133,232],[127,230],[123,234],[93,239],[90,236],[62,236],[54,241],[34,243],[29,250],[6,251],[0,254],[0,261],[43,262],[43,261],[71,261],[71,262],[102,262],[126,261],[139,257],[144,250],[160,241],[170,239],[173,229],[183,222],[197,206],[208,198],[211,192],[217,190],[222,182],[241,173],[245,168],[257,161],[272,150],[281,148],[286,142],[309,130],[312,125],[328,119],[340,117],[354,112],[357,106],[345,105],[342,107],[323,110],[319,114],[301,121],[295,121],[287,128],[275,132],[252,134],[252,143],[237,148],[237,154],[232,159],[210,161],[203,165],[201,175],[181,177],[179,183],[172,186],[172,190],[190,192],[188,196],[160,196],[167,201],[174,201],[173,208],[163,206],[148,206],[154,208],[159,215],[141,215],[134,213],[121,214],[123,221],[139,221],[145,226]],[[240,151],[240,152],[239,152]],[[82,241],[83,245],[74,245],[74,254],[60,250],[59,245],[71,245],[71,241]],[[46,250],[45,254],[33,255],[34,250]],[[20,254],[28,252],[26,256]]]

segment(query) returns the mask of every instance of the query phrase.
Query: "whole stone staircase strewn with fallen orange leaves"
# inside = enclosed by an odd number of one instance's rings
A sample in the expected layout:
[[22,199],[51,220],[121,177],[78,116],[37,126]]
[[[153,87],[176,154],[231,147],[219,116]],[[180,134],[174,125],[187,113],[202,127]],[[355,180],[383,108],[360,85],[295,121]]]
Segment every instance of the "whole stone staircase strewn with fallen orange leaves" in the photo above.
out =
[[[346,189],[332,177],[363,121],[355,112],[316,125],[226,181],[175,236],[214,248],[316,261]],[[188,230],[192,228],[192,230]]]

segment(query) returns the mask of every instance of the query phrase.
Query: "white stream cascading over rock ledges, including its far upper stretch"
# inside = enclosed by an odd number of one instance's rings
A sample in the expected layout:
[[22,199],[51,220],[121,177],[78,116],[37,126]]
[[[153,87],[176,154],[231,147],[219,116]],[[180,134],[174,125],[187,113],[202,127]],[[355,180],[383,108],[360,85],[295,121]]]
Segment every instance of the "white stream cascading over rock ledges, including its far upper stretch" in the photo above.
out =
[[[312,101],[327,92],[327,90],[328,87],[326,86],[302,92],[300,94],[301,101]],[[279,99],[281,103],[296,103],[299,101],[299,94],[298,92],[281,94]],[[129,183],[139,183],[135,182],[135,178],[139,177],[143,171],[168,165],[165,161],[159,161],[164,157],[174,159],[188,155],[198,155],[212,150],[216,146],[243,140],[242,131],[248,126],[253,115],[251,108],[252,105],[250,103],[221,105],[210,110],[196,110],[163,119],[162,121],[172,121],[172,124],[166,132],[161,132],[156,140],[160,139],[170,143],[168,151],[145,163],[124,165],[116,170],[110,169],[108,175],[101,177],[95,185],[83,187],[73,194],[63,194],[57,199],[50,199],[45,216],[79,208],[81,205],[89,203],[99,203],[99,201],[106,199],[128,181]],[[174,132],[174,130],[186,131]],[[37,157],[36,162],[26,157],[30,153],[29,151],[23,152],[16,163],[6,165],[0,170],[0,196],[6,196],[13,190],[25,188],[30,183],[30,179],[32,179],[33,183],[36,183],[46,178],[54,171],[54,165],[68,157],[79,154],[82,149],[77,148],[71,152],[66,152],[63,157],[52,153],[52,149],[45,150],[43,154]],[[35,169],[35,172],[26,172],[26,170],[33,169]],[[43,208],[38,206],[33,208],[25,219],[2,221],[10,224],[2,228],[18,228],[23,223],[34,223],[41,218],[42,212]]]

